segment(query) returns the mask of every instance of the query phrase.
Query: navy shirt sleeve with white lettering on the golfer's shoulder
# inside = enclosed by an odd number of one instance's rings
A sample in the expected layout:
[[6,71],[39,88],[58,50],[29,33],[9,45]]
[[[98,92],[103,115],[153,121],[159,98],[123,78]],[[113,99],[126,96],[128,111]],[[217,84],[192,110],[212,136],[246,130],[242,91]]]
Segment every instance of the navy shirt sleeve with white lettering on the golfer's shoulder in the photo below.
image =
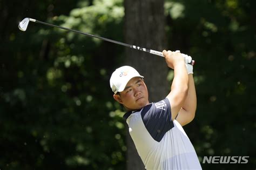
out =
[[151,137],[160,142],[165,133],[174,127],[171,105],[167,98],[143,108],[142,120]]

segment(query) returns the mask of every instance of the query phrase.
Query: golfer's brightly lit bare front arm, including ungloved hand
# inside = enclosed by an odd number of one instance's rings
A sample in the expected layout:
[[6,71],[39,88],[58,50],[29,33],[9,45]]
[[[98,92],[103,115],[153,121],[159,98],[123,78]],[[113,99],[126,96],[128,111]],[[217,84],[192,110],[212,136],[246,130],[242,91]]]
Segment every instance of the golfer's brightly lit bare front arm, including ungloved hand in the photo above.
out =
[[184,57],[180,52],[163,51],[166,64],[174,69],[174,78],[171,85],[171,92],[167,95],[171,104],[172,120],[177,117],[180,108],[184,105],[188,92],[188,75]]

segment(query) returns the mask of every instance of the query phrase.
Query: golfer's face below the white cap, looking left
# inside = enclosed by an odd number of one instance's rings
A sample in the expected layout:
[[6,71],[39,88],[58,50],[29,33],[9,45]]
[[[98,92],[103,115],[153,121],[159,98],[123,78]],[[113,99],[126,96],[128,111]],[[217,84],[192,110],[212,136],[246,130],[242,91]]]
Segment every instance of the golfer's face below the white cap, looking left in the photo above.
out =
[[143,79],[134,77],[126,84],[124,91],[119,92],[119,95],[114,94],[114,99],[128,111],[139,110],[149,104],[149,93]]

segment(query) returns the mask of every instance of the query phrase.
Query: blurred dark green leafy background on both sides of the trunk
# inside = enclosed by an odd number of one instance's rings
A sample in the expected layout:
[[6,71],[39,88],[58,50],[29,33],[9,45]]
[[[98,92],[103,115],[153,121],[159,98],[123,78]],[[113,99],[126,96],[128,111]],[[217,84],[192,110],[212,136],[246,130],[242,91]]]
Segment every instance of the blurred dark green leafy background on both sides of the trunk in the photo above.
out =
[[[250,156],[203,169],[256,168],[255,5],[165,1],[168,49],[196,60],[197,115],[184,128],[199,160]],[[31,17],[124,42],[123,1],[1,0],[0,9],[0,169],[124,169],[124,110],[109,78],[125,47],[41,24],[17,28]]]

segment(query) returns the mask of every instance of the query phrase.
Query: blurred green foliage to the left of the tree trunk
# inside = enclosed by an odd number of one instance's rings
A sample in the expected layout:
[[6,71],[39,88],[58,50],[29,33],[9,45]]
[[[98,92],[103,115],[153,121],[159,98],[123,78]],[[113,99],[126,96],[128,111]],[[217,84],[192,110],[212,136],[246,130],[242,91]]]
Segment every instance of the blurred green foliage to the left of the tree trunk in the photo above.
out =
[[[122,1],[93,1],[47,22],[123,40],[123,16]],[[123,112],[109,87],[122,48],[35,23],[18,32],[16,24],[4,51],[12,58],[1,62],[1,169],[123,168]]]

